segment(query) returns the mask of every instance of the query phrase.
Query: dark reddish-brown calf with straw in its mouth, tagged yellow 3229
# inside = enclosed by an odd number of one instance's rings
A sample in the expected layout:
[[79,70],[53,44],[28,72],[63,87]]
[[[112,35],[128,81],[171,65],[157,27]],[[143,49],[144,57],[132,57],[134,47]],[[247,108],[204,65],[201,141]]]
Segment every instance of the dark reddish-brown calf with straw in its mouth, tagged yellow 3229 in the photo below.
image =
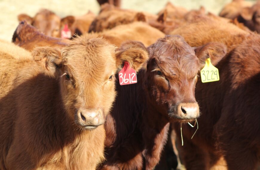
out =
[[118,96],[105,123],[106,161],[99,169],[153,169],[169,123],[199,117],[195,84],[205,59],[217,64],[226,53],[220,43],[192,48],[178,35],[160,38],[148,50],[149,61],[138,72],[137,84],[117,82]]

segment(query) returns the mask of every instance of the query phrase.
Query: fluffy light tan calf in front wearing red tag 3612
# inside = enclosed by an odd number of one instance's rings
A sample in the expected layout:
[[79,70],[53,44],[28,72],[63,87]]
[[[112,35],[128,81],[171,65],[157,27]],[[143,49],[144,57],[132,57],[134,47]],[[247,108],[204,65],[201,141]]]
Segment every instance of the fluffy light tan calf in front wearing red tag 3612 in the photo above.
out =
[[114,74],[123,61],[143,65],[143,44],[77,38],[62,50],[39,47],[33,59],[0,51],[0,169],[95,169]]

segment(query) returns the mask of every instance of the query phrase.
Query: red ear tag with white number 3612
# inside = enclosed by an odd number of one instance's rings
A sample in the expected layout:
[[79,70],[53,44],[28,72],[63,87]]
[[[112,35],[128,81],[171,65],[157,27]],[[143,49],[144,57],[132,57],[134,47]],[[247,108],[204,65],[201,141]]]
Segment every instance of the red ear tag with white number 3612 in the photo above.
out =
[[118,73],[119,76],[119,84],[134,84],[137,83],[136,71],[131,68],[129,62],[124,62],[123,69]]

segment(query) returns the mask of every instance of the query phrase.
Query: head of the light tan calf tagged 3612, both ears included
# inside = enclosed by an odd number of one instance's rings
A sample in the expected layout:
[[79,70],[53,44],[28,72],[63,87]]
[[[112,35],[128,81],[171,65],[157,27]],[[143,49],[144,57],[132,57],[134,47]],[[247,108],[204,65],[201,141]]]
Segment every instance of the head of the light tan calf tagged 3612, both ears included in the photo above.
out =
[[60,93],[67,116],[80,129],[102,125],[114,101],[114,74],[124,61],[138,70],[148,59],[139,42],[117,48],[102,38],[77,38],[61,51],[42,47],[34,59],[51,77],[59,78]]

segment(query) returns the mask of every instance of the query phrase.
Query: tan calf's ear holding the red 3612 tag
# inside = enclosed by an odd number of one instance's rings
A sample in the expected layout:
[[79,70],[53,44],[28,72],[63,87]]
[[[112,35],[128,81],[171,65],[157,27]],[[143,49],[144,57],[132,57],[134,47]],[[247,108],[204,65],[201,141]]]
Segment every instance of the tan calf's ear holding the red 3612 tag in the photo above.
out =
[[116,50],[117,68],[122,68],[123,62],[127,61],[135,71],[138,71],[148,58],[148,50],[140,41],[126,41]]

